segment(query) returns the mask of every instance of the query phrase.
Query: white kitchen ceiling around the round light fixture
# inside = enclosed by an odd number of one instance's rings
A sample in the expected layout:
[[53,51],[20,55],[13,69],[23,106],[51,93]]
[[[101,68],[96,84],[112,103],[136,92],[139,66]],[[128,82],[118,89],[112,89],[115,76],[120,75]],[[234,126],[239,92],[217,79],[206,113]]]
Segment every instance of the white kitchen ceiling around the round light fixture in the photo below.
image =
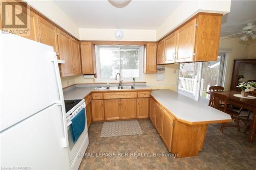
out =
[[106,0],[54,3],[79,28],[156,30],[182,1],[132,0],[124,8],[115,8]]

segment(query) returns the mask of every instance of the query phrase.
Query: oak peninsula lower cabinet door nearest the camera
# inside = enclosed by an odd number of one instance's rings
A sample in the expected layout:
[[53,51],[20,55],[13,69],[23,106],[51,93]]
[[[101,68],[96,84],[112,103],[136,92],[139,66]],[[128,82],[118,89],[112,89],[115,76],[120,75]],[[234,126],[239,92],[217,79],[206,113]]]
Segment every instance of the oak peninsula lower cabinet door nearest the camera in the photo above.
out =
[[174,118],[163,110],[162,139],[169,152],[170,147],[172,146],[173,123]]

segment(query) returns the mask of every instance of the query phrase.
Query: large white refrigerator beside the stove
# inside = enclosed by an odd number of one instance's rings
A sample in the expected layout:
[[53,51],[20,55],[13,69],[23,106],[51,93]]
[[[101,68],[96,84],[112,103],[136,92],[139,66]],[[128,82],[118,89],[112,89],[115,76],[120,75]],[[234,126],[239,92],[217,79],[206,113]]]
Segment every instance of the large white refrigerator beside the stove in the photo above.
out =
[[70,169],[53,47],[0,34],[0,119],[2,168]]

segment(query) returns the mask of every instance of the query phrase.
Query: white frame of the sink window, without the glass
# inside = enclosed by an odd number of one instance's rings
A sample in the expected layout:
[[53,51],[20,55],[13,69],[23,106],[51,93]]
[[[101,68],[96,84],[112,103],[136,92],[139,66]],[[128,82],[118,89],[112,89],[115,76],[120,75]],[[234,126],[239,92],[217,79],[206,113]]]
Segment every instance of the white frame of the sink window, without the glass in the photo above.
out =
[[[100,56],[99,56],[99,48],[100,47],[115,47],[119,48],[119,55],[120,55],[120,49],[121,48],[139,48],[139,78],[136,78],[137,81],[142,81],[142,72],[143,72],[143,54],[144,54],[144,46],[141,45],[95,45],[95,58],[96,58],[96,82],[119,82],[119,77],[118,80],[115,80],[115,78],[112,79],[105,79],[101,78],[101,70],[100,70]],[[121,70],[121,56],[120,56],[120,65],[119,65],[119,70]],[[120,72],[121,74],[121,72]],[[132,82],[132,78],[121,78],[124,82]]]

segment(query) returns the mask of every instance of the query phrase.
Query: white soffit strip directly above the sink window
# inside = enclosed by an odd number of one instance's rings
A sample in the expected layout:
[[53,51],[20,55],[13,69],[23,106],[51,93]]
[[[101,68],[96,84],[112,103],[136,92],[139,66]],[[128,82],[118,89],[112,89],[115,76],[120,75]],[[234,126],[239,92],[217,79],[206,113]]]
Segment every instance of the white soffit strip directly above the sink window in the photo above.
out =
[[[117,29],[79,29],[80,40],[116,41]],[[122,41],[156,41],[156,30],[121,30]]]

